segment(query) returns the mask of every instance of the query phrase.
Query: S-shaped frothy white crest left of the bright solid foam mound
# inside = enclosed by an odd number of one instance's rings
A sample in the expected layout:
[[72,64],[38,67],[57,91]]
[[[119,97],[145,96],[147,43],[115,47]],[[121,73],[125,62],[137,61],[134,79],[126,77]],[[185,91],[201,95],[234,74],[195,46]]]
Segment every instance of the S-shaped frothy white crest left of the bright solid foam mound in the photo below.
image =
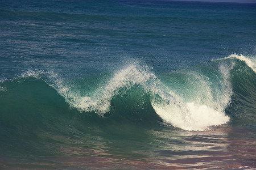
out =
[[[148,82],[151,82],[147,84]],[[145,90],[153,90],[157,80],[154,73],[148,71],[146,66],[138,64],[129,65],[116,73],[109,82],[99,87],[92,96],[81,96],[75,93],[71,88],[64,86],[61,80],[55,80],[57,91],[64,96],[69,105],[77,108],[79,111],[90,112],[94,111],[99,116],[104,116],[110,111],[110,102],[115,95],[120,95],[120,89],[126,88],[129,90],[135,84],[144,87]]]

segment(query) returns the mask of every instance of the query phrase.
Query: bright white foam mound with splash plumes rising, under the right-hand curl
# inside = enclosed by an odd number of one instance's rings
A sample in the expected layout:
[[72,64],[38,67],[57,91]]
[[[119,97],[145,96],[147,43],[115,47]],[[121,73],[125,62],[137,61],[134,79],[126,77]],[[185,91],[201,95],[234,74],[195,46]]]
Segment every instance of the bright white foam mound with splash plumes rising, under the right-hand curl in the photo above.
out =
[[[210,83],[203,76],[195,73],[188,75],[195,76],[200,82],[200,88],[192,101],[184,101],[174,92],[171,98],[162,97],[162,100],[152,99],[152,107],[156,113],[167,123],[184,130],[205,130],[209,126],[225,124],[229,121],[229,117],[225,115],[225,108],[230,103],[232,96],[232,87],[229,82],[229,71],[233,69],[233,65],[221,64],[219,67],[221,73],[220,89],[212,89]],[[198,86],[198,84],[195,84]],[[175,100],[174,100],[175,99]]]

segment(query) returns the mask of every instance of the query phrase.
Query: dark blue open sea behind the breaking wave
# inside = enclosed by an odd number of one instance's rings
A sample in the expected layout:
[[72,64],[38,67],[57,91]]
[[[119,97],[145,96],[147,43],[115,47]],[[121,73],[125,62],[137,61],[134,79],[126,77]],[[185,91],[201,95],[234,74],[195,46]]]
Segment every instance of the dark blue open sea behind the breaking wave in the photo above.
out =
[[[233,53],[251,55],[254,14],[255,4],[237,3],[1,1],[1,76],[39,66],[57,72],[72,67],[69,74],[78,75],[112,72],[116,63],[148,52],[159,59],[159,72]],[[57,69],[59,61],[63,68]]]

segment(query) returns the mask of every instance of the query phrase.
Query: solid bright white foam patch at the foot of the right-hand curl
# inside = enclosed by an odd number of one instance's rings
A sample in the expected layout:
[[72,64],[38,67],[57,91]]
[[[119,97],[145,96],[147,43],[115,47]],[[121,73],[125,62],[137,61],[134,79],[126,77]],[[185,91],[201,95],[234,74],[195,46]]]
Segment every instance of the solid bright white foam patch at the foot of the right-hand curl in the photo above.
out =
[[184,108],[176,104],[155,104],[152,106],[164,121],[184,130],[205,130],[209,126],[225,124],[229,117],[207,105],[185,103]]

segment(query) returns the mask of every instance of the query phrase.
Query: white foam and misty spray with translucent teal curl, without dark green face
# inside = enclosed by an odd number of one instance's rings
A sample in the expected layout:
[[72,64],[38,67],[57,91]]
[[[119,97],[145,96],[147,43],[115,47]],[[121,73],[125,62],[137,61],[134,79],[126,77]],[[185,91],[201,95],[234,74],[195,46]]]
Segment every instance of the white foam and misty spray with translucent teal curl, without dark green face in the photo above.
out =
[[[164,122],[184,130],[205,130],[229,121],[225,109],[233,94],[230,71],[234,65],[236,61],[233,59],[218,59],[210,62],[208,68],[213,69],[210,75],[201,69],[174,71],[158,77],[146,65],[133,63],[117,71],[105,85],[98,86],[90,95],[83,94],[72,83],[64,82],[53,71],[28,70],[19,81],[27,77],[44,80],[64,97],[71,108],[80,112],[95,112],[100,117],[110,112],[115,96],[125,95],[131,88],[140,86],[149,94],[152,107]],[[175,77],[179,89],[173,82],[164,80],[174,80]]]

